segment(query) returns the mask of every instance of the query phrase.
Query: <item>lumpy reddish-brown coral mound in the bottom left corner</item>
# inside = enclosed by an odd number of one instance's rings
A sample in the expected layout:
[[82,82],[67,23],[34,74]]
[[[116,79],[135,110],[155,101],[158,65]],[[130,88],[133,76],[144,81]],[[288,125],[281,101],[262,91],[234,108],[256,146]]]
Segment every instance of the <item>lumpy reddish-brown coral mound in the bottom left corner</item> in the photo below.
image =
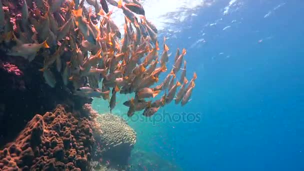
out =
[[14,142],[0,151],[0,169],[87,170],[94,141],[92,125],[79,116],[61,105],[43,116],[36,114]]

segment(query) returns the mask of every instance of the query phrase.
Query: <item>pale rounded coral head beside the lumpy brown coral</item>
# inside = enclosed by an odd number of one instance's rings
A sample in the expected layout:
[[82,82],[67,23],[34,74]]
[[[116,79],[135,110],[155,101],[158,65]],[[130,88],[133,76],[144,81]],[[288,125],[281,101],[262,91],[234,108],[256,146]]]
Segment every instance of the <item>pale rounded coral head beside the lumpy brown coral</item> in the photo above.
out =
[[96,118],[97,133],[95,158],[101,158],[101,163],[114,168],[125,168],[128,164],[130,152],[136,142],[136,132],[127,122],[116,115],[106,113]]

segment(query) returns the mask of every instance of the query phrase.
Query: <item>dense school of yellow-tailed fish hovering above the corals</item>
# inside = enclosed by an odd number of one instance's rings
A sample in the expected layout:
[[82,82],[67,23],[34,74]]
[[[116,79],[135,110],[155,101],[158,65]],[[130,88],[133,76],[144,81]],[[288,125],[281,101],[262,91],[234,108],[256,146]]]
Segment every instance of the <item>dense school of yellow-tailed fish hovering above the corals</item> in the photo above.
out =
[[[135,96],[123,103],[129,107],[128,116],[140,110],[151,116],[173,100],[181,105],[190,100],[196,74],[187,80],[186,50],[177,48],[173,67],[167,70],[169,47],[164,38],[158,54],[157,29],[144,16],[138,0],[86,0],[89,7],[84,0],[16,1],[21,1],[20,13],[10,11],[10,0],[0,0],[0,41],[13,42],[3,50],[29,62],[42,56],[39,71],[50,87],[58,82],[72,84],[74,95],[102,97],[109,101],[110,111],[117,92],[134,92]],[[123,33],[112,20],[108,3],[125,15]],[[56,79],[54,72],[60,73],[62,80]],[[159,81],[165,72],[164,80]],[[161,91],[163,95],[157,97]]]

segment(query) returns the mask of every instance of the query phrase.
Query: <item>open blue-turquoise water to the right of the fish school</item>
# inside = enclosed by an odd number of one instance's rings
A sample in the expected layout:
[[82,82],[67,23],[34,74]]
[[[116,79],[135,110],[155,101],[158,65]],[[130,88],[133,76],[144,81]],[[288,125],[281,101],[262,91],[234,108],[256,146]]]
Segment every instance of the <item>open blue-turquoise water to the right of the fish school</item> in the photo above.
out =
[[[150,165],[132,162],[147,170],[304,170],[304,1],[237,0],[225,12],[227,4],[197,9],[167,40],[169,63],[184,47],[187,78],[198,75],[188,104],[172,102],[144,121],[126,117],[131,95],[118,96],[113,113],[136,130],[133,152],[151,157]],[[107,105],[93,101],[100,113]],[[164,112],[189,119],[157,121]]]

